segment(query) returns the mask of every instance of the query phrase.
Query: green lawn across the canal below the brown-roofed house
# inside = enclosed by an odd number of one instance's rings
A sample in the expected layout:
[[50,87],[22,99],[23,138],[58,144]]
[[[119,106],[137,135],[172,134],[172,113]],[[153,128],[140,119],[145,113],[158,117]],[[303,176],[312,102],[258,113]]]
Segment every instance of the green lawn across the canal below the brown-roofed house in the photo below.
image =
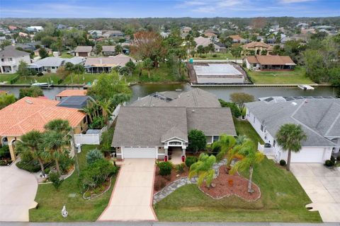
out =
[[255,84],[313,84],[305,76],[305,69],[296,67],[294,71],[249,71],[249,77]]

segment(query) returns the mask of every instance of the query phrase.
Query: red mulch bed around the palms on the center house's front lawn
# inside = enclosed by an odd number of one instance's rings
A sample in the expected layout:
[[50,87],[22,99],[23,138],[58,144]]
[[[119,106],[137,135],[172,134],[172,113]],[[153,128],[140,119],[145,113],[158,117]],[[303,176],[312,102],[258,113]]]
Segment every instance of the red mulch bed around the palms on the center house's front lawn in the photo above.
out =
[[212,198],[224,198],[234,195],[246,201],[255,201],[261,196],[258,186],[253,183],[251,188],[254,189],[254,193],[249,193],[248,180],[237,173],[234,175],[227,174],[225,172],[225,165],[220,167],[220,174],[212,183],[216,185],[215,188],[212,186],[207,188],[204,183],[200,186],[200,190],[212,196]]

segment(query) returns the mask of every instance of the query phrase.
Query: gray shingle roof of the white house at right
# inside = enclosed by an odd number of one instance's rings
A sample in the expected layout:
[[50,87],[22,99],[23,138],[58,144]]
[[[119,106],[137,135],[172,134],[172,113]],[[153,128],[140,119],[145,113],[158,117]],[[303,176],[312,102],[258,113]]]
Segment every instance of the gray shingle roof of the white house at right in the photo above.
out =
[[246,103],[272,136],[287,123],[301,124],[307,134],[305,146],[336,146],[327,137],[340,137],[340,99],[307,99],[288,102]]

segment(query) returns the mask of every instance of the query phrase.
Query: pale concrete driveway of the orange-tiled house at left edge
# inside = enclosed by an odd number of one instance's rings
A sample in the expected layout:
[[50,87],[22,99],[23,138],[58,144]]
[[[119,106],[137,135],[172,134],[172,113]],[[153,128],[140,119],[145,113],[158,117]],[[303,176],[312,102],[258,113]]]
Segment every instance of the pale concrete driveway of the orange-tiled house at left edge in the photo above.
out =
[[33,174],[10,167],[0,167],[0,221],[28,221],[28,210],[36,206],[38,182]]

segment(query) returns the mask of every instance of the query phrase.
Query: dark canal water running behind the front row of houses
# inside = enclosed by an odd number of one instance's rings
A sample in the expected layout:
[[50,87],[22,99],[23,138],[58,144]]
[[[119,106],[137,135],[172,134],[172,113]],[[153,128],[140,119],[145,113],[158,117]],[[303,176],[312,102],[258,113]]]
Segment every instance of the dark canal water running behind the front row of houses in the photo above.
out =
[[[301,90],[295,87],[200,87],[210,93],[215,94],[218,98],[228,101],[229,95],[232,93],[249,93],[257,99],[259,97],[268,96],[334,96],[336,89],[332,87],[316,87],[315,90]],[[43,90],[46,97],[55,99],[55,95],[65,89],[82,89],[82,88],[66,88],[54,87]],[[189,84],[146,84],[132,85],[132,98],[130,102],[137,100],[138,97],[145,97],[151,93],[162,92],[166,90],[181,89],[183,91],[191,90]],[[0,87],[0,90],[6,90],[18,97],[20,87]]]

